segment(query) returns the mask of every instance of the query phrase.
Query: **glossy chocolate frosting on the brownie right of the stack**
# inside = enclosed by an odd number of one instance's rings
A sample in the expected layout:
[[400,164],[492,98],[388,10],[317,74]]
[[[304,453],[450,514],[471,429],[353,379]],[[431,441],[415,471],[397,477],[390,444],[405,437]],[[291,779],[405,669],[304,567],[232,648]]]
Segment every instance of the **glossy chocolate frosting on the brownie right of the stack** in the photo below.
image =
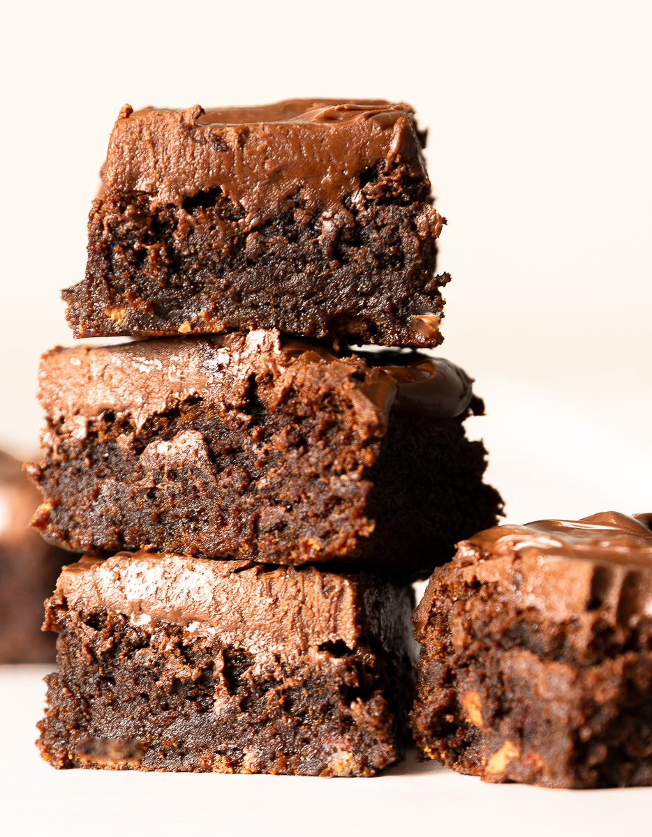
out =
[[[579,521],[494,526],[458,544],[453,562],[467,583],[495,584],[519,609],[542,619],[603,619],[611,626],[652,618],[649,515],[605,511]],[[437,571],[435,571],[437,573]],[[427,624],[436,585],[415,611]]]

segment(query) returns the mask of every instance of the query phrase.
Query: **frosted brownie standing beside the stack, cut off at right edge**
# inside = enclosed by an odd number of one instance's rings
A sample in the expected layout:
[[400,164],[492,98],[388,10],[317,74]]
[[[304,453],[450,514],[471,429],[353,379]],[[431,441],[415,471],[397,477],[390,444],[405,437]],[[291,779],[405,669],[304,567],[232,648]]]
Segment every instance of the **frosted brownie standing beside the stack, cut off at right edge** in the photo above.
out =
[[415,611],[422,757],[487,782],[652,784],[651,516],[496,526]]

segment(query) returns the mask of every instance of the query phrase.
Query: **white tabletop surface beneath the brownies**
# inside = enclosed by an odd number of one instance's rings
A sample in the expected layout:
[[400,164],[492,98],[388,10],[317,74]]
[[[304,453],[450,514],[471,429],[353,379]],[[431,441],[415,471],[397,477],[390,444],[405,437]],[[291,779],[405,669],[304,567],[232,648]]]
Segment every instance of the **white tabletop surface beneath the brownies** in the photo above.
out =
[[[3,834],[649,834],[652,788],[562,791],[488,785],[411,756],[380,777],[56,771],[33,742],[48,672],[0,667]],[[423,831],[421,831],[423,829]]]

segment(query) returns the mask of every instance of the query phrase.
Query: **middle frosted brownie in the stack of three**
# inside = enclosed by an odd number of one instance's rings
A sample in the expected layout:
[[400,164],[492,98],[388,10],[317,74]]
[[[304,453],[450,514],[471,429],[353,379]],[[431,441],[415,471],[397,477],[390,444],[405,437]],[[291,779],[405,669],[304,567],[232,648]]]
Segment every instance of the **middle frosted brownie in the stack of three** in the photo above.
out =
[[500,511],[463,429],[482,403],[448,361],[379,357],[396,365],[274,331],[47,352],[33,525],[102,556],[359,560],[427,577]]

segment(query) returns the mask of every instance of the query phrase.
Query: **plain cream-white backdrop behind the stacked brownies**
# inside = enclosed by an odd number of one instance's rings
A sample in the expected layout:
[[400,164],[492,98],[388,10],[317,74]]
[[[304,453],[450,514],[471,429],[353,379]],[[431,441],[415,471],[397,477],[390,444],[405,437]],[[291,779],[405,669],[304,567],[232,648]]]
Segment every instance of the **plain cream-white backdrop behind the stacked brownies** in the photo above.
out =
[[14,3],[3,13],[0,444],[34,449],[39,353],[121,105],[417,106],[448,286],[440,352],[513,521],[652,509],[652,3]]

